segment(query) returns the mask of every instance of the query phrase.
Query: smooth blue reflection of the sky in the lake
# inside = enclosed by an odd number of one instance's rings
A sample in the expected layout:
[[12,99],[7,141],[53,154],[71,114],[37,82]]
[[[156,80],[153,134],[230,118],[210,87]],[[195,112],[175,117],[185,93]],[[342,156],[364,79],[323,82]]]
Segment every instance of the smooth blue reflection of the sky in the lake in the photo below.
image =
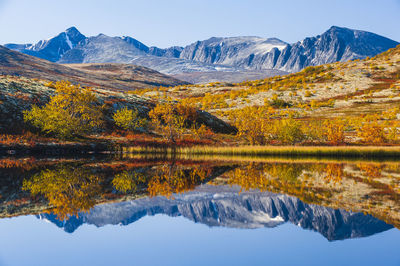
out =
[[34,216],[0,220],[0,265],[399,265],[400,231],[328,242],[292,224],[209,228],[182,217],[66,234]]

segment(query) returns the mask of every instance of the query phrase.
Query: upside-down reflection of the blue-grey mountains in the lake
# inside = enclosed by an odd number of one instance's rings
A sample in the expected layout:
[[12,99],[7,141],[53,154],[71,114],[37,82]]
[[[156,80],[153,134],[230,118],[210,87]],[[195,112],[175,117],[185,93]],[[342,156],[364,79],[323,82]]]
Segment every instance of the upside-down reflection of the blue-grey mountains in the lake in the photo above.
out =
[[392,228],[370,215],[309,205],[295,197],[269,192],[239,194],[236,188],[207,185],[174,199],[155,197],[98,205],[90,213],[63,222],[52,214],[38,217],[72,233],[84,223],[98,227],[128,225],[155,214],[183,216],[195,223],[232,228],[275,227],[291,222],[317,231],[328,240],[365,237]]

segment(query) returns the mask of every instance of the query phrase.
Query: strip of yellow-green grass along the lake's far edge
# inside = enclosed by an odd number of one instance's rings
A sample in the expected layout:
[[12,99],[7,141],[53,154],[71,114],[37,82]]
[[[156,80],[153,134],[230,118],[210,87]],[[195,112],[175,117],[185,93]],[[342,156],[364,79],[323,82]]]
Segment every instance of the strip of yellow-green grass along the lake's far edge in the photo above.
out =
[[327,158],[392,158],[400,159],[400,147],[384,146],[237,146],[237,147],[177,147],[157,149],[144,147],[124,147],[124,153],[180,154],[213,156],[289,156]]

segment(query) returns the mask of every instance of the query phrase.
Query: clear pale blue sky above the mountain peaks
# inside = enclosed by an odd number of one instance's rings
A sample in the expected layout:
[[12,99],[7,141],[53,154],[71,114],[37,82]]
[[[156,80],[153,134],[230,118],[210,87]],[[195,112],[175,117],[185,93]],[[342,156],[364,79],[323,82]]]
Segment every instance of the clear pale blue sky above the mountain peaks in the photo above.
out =
[[146,45],[212,36],[296,42],[343,26],[400,41],[400,0],[0,0],[0,43],[36,42],[76,26],[87,36],[128,35]]

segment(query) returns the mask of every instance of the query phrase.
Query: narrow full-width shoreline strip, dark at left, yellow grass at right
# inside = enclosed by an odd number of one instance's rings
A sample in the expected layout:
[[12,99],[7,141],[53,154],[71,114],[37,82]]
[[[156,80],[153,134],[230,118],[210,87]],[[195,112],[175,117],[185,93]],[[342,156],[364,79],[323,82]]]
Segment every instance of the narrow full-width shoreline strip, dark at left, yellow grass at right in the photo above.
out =
[[171,157],[252,157],[287,158],[362,158],[400,160],[400,146],[177,146],[149,147],[116,143],[42,143],[35,145],[0,145],[0,156],[18,155],[92,155],[138,154]]

